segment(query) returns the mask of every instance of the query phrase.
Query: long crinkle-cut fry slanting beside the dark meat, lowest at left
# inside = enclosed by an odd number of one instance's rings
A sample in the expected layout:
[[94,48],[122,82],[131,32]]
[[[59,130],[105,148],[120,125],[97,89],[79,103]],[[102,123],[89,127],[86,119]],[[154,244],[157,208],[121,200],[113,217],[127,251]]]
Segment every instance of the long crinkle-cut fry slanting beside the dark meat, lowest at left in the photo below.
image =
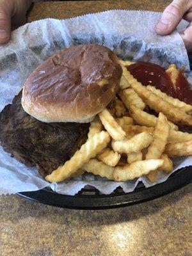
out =
[[110,141],[108,132],[102,131],[96,133],[93,137],[88,139],[79,150],[76,151],[74,156],[70,158],[63,166],[58,167],[50,175],[45,177],[50,182],[60,182],[68,179],[73,173],[88,162],[91,158],[107,147]]

